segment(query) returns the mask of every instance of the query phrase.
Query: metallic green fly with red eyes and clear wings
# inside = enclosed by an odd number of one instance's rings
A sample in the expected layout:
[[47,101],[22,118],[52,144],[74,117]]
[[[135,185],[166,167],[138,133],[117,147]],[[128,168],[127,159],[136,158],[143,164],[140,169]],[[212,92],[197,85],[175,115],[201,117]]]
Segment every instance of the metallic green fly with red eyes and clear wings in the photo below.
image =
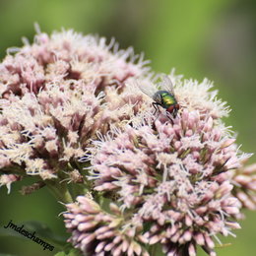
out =
[[138,85],[140,90],[147,96],[152,97],[155,102],[153,102],[153,106],[156,111],[159,111],[159,106],[166,109],[166,112],[175,118],[178,113],[179,103],[174,95],[173,85],[170,79],[167,76],[162,77],[162,81],[157,85],[157,87],[153,86],[145,86]]

